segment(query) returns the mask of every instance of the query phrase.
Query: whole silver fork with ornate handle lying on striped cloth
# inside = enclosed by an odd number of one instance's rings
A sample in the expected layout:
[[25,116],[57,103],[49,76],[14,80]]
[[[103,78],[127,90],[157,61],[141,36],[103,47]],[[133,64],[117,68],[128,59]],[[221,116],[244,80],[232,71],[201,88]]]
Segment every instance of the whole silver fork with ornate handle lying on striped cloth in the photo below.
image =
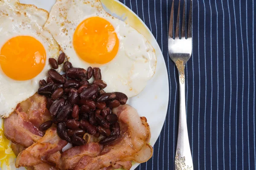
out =
[[169,26],[169,39],[168,48],[169,56],[175,63],[180,82],[180,111],[179,111],[179,127],[178,139],[175,154],[175,170],[193,170],[192,156],[189,146],[189,136],[186,123],[186,105],[185,105],[185,65],[191,57],[192,53],[192,0],[190,4],[189,23],[187,30],[187,37],[185,36],[186,30],[186,14],[185,14],[185,0],[183,7],[183,22],[180,37],[180,2],[177,14],[176,34],[174,33],[174,0],[172,1],[171,19]]

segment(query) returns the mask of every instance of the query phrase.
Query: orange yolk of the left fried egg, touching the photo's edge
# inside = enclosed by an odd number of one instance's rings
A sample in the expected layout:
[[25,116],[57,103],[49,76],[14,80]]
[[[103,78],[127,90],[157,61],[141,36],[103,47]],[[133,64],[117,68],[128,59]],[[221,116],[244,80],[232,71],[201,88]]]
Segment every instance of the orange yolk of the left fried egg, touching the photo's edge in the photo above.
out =
[[15,80],[29,80],[44,68],[44,46],[30,36],[17,36],[8,40],[0,51],[0,66],[6,76]]

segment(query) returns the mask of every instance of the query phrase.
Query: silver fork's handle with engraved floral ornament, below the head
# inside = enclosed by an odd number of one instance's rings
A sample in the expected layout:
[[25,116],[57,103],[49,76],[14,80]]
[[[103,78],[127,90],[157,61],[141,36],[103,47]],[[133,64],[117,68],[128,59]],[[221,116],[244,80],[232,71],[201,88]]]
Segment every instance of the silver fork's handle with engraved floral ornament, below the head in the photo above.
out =
[[[177,63],[176,63],[177,65]],[[180,82],[180,111],[179,111],[179,126],[178,139],[175,153],[175,170],[193,170],[192,156],[189,146],[189,136],[186,123],[186,103],[185,103],[185,65],[182,69],[178,68]]]

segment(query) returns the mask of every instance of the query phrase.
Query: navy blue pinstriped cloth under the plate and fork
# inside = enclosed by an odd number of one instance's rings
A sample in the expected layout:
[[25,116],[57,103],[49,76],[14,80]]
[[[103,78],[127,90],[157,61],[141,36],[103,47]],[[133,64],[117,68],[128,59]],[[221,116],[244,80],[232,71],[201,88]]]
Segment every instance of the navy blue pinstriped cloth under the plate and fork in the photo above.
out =
[[[179,90],[167,47],[172,0],[120,1],[154,34],[170,83],[168,113],[154,155],[137,170],[173,170]],[[192,57],[185,70],[194,170],[256,170],[255,14],[253,0],[193,0]]]

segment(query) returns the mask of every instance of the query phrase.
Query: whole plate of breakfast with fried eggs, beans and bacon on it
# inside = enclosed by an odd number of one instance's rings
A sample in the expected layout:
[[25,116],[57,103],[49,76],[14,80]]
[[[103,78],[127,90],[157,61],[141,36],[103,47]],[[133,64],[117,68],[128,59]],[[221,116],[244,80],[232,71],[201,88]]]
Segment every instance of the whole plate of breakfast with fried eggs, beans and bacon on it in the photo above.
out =
[[1,170],[134,170],[169,102],[163,54],[117,0],[0,0]]

